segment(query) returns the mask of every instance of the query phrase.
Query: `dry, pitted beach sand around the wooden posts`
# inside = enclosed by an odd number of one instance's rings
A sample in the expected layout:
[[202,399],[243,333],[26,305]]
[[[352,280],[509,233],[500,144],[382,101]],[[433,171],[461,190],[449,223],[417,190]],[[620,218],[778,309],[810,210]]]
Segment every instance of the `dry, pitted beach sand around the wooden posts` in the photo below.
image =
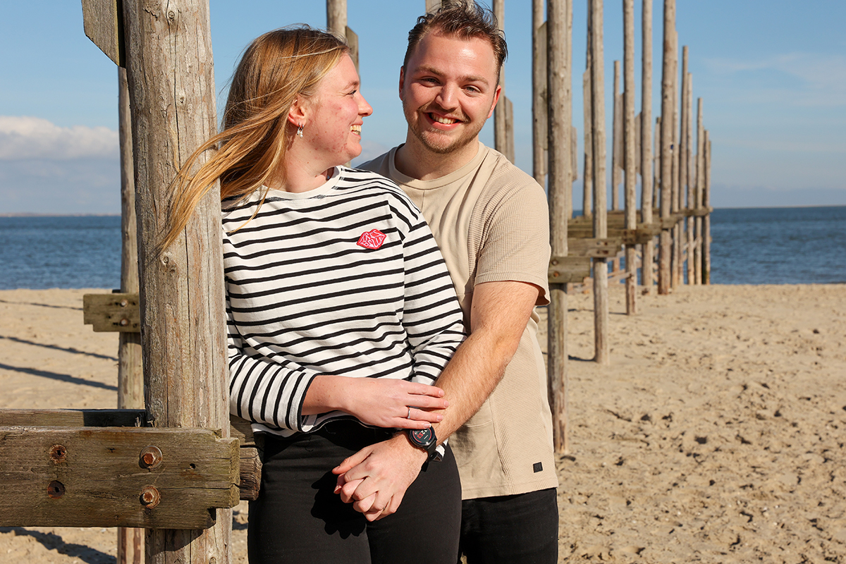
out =
[[[112,408],[117,336],[85,290],[0,292],[0,408]],[[569,299],[561,561],[846,562],[846,286],[682,287],[624,315],[593,356]],[[244,562],[245,508],[234,561]],[[0,528],[0,562],[114,561],[102,528]]]

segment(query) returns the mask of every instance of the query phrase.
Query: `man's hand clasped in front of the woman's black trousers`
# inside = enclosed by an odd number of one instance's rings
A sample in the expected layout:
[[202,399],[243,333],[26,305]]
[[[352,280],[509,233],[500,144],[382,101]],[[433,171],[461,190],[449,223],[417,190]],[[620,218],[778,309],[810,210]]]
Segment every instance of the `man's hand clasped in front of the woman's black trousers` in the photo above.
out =
[[338,474],[335,493],[368,521],[376,521],[397,511],[425,462],[426,452],[400,433],[365,446],[333,468],[332,473]]

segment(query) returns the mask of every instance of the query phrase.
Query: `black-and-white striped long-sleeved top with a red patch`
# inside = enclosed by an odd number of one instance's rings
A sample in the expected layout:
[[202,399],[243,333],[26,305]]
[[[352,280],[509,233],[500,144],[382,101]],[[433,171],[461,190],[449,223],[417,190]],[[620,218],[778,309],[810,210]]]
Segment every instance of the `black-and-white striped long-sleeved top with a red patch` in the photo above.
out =
[[462,314],[403,191],[336,167],[305,193],[258,192],[223,202],[231,413],[287,436],[351,417],[302,414],[316,375],[436,381],[464,340]]

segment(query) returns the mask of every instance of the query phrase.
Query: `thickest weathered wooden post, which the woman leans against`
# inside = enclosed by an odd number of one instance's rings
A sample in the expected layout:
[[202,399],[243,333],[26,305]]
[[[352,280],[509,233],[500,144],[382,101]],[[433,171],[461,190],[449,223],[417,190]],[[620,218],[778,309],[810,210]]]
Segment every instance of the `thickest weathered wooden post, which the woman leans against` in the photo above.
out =
[[[184,233],[156,252],[170,183],[217,130],[208,0],[179,9],[124,0],[138,216],[141,342],[147,418],[155,427],[229,434],[220,191],[201,200]],[[231,510],[205,530],[151,529],[153,564],[229,561]]]

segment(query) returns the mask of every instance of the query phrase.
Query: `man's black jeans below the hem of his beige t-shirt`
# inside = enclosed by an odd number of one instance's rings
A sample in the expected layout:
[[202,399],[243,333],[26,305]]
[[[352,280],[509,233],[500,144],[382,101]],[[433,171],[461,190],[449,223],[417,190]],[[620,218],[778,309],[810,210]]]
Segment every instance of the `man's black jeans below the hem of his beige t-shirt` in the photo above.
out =
[[555,488],[464,500],[459,550],[467,564],[557,564]]

